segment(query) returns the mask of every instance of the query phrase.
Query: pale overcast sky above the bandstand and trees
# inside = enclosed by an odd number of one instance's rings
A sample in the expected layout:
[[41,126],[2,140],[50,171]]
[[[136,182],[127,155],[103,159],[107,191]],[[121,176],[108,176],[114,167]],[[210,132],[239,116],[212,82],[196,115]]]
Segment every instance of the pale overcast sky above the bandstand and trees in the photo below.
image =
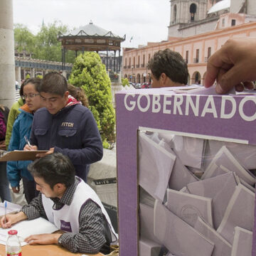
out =
[[[13,0],[14,23],[36,34],[42,23],[61,21],[70,30],[95,25],[118,36],[126,34],[122,47],[167,39],[169,0]],[[130,38],[132,38],[130,42]]]

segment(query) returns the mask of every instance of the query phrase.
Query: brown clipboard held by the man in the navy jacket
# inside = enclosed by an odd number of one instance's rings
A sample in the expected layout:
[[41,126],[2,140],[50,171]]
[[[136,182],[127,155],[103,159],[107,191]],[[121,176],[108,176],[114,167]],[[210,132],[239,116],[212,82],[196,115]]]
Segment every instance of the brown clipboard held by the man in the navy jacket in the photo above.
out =
[[26,161],[38,159],[36,154],[46,153],[48,150],[0,150],[0,161]]

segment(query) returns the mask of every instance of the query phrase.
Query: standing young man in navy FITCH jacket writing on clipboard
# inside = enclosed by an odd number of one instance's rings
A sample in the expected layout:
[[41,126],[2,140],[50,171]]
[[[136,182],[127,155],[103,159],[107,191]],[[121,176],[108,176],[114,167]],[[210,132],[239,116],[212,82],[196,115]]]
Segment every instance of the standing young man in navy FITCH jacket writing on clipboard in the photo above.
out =
[[[48,150],[62,153],[75,166],[75,174],[86,181],[87,165],[102,159],[100,132],[90,110],[71,97],[63,75],[48,73],[39,88],[46,107],[33,118],[30,142],[24,150]],[[39,157],[45,154],[38,154]]]

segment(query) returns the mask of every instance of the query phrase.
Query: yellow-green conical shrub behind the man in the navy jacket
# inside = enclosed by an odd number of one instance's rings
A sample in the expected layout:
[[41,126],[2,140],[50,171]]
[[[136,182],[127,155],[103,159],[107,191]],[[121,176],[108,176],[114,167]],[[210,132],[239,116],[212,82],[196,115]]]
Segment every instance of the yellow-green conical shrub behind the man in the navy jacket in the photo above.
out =
[[100,55],[95,52],[85,52],[75,59],[69,78],[72,85],[85,90],[94,115],[97,127],[105,148],[115,141],[114,108],[112,106],[111,82]]

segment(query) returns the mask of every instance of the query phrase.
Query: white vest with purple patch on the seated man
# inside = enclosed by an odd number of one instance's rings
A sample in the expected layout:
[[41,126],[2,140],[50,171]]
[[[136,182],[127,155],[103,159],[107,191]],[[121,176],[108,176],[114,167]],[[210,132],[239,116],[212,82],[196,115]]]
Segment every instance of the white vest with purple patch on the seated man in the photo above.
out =
[[110,217],[102,205],[100,198],[97,196],[97,193],[95,193],[95,191],[89,185],[87,185],[87,183],[85,183],[85,181],[82,181],[80,178],[79,180],[80,183],[78,183],[78,186],[75,189],[70,206],[64,205],[60,210],[54,210],[53,201],[50,198],[46,198],[46,196],[42,194],[43,208],[46,211],[48,220],[51,223],[54,223],[54,225],[60,230],[79,233],[80,209],[87,200],[91,199],[98,206],[100,206],[102,213],[105,215],[107,223],[110,226],[112,242],[115,242],[118,236],[114,232]]

